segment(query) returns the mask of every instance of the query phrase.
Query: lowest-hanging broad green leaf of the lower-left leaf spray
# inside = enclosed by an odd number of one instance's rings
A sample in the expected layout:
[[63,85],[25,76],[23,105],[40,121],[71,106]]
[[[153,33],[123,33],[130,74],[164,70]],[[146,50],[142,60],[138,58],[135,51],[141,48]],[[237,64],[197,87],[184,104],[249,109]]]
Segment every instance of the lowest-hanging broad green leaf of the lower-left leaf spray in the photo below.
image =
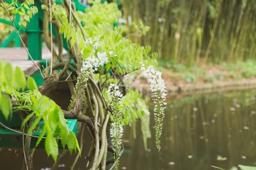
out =
[[53,160],[56,162],[58,156],[58,143],[51,134],[47,134],[45,148],[47,155],[52,155]]

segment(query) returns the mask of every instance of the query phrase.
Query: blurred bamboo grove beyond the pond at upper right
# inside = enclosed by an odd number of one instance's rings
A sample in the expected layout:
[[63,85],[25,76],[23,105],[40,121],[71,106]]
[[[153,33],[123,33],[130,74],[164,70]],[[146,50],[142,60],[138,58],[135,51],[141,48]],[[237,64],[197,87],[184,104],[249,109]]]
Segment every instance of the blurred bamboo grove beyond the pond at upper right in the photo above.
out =
[[[235,62],[255,59],[256,4],[253,0],[121,1],[138,44],[150,43],[160,58],[193,65],[199,61]],[[133,23],[150,27],[136,36]]]

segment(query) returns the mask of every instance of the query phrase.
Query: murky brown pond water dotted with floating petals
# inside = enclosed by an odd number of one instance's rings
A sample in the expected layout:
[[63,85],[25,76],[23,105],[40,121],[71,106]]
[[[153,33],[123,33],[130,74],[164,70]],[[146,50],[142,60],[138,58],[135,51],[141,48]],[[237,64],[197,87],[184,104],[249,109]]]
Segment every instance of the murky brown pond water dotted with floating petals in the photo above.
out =
[[[153,109],[151,105],[151,111]],[[221,92],[201,95],[169,96],[162,132],[162,149],[155,147],[154,117],[151,117],[152,138],[145,151],[136,123],[133,129],[126,127],[123,136],[124,152],[120,169],[225,169],[238,164],[256,166],[256,90]],[[84,149],[91,143],[84,140]],[[86,147],[87,146],[87,147]],[[87,163],[83,150],[75,169],[83,169]],[[22,149],[0,149],[1,169],[21,169]],[[58,169],[70,169],[75,154],[61,161]],[[43,149],[36,149],[33,157],[35,169],[51,167]]]

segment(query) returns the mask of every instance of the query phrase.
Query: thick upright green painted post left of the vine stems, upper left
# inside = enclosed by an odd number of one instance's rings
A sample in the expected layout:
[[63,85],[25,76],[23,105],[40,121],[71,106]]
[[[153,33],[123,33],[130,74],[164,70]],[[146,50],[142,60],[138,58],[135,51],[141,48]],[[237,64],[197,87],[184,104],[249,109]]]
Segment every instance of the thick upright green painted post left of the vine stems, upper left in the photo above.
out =
[[[41,60],[42,59],[42,30],[41,30],[41,21],[39,19],[39,15],[42,15],[41,3],[39,0],[35,1],[34,6],[37,7],[38,13],[35,14],[28,22],[28,50],[31,57],[34,60]],[[30,60],[30,58],[29,58]]]

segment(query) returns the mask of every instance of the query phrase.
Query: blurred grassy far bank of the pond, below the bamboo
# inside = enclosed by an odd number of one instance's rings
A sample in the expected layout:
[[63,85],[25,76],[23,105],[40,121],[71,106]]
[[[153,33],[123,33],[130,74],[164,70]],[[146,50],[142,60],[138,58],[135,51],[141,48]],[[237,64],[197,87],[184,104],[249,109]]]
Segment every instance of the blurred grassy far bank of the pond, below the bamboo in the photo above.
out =
[[[236,63],[198,63],[187,67],[159,61],[166,90],[170,95],[243,90],[256,88],[256,60]],[[137,78],[133,87],[140,92],[150,91],[146,79]]]

